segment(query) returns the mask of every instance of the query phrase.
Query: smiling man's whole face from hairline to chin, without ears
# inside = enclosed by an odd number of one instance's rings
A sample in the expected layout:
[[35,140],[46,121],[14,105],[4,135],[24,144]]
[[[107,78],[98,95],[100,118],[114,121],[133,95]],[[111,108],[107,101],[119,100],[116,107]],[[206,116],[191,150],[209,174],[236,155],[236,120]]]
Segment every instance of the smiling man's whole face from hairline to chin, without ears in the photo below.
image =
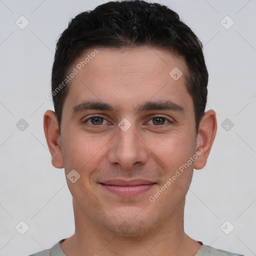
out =
[[[74,211],[99,228],[144,235],[180,216],[199,157],[186,66],[147,46],[90,52],[70,68],[78,72],[62,110],[61,154],[65,174],[75,170],[75,182],[66,178]],[[178,79],[173,68],[182,71]]]

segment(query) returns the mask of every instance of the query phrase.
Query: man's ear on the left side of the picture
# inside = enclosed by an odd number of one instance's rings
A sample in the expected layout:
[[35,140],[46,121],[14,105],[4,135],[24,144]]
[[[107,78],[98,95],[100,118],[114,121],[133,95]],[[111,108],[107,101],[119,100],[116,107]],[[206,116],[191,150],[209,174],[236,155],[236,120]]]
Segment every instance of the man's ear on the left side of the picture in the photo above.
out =
[[51,163],[56,168],[63,168],[60,135],[55,112],[47,110],[43,116],[43,129],[47,145],[51,154]]

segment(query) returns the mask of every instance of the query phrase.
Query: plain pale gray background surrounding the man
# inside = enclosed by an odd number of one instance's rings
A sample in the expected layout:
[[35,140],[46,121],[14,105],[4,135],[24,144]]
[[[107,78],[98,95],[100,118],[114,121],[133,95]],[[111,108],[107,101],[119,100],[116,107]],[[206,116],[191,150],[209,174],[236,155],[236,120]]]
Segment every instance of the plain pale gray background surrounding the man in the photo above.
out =
[[[46,95],[59,34],[71,17],[103,2],[0,0],[0,255],[29,255],[74,231],[64,170],[51,165],[42,117],[53,109]],[[207,165],[194,171],[187,194],[185,231],[204,244],[256,255],[256,1],[157,2],[177,11],[202,41],[207,109],[218,121]],[[15,23],[25,24],[21,15],[29,21],[24,29]],[[21,118],[23,130],[16,126]],[[24,224],[15,228],[21,220],[29,226],[24,234]]]

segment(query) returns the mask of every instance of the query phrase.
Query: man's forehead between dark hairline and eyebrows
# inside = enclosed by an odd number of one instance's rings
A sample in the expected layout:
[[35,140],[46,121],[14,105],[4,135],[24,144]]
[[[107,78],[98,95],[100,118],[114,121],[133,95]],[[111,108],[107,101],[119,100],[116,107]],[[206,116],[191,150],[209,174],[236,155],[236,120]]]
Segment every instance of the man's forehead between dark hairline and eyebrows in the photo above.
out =
[[149,100],[172,100],[184,108],[190,103],[192,106],[185,87],[184,60],[163,49],[91,48],[76,58],[70,70],[74,69],[76,74],[68,84],[64,103],[68,108],[87,99],[118,109],[134,109],[138,102]]

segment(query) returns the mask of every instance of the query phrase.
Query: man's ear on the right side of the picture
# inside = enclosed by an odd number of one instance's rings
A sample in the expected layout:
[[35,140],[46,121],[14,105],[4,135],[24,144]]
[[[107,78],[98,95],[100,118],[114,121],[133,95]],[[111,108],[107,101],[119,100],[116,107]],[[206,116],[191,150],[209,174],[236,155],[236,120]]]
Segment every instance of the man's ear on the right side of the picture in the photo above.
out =
[[196,137],[197,159],[194,162],[195,169],[201,169],[205,166],[207,158],[216,135],[217,120],[215,112],[210,109],[204,113]]

